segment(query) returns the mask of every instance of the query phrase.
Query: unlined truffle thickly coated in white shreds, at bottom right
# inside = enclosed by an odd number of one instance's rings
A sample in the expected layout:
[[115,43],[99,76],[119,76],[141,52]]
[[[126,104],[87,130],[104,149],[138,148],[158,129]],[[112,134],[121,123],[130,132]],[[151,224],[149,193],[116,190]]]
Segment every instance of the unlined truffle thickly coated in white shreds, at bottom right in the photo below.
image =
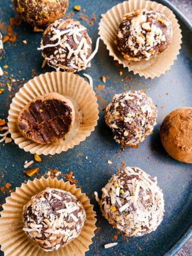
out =
[[163,193],[149,174],[138,167],[125,167],[102,188],[100,208],[124,235],[142,236],[156,230],[163,220]]

